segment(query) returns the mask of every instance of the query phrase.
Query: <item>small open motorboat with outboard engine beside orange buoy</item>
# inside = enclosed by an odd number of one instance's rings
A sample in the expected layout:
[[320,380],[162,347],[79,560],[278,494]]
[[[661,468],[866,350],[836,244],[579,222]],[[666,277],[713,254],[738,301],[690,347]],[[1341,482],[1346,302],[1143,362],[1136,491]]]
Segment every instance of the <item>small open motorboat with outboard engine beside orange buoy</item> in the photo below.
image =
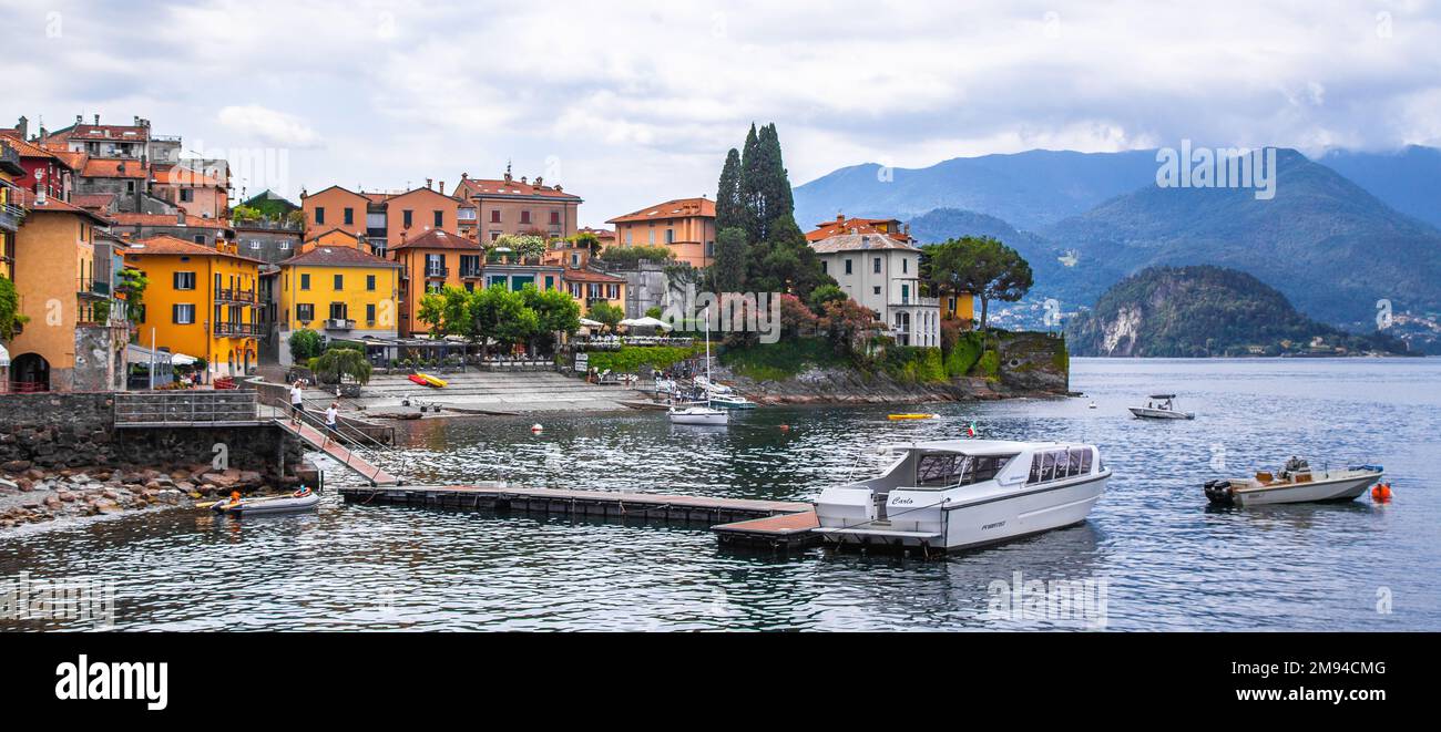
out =
[[1307,461],[1293,457],[1278,474],[1262,470],[1249,478],[1212,480],[1205,491],[1218,506],[1346,501],[1366,493],[1382,474],[1380,465],[1311,471]]

